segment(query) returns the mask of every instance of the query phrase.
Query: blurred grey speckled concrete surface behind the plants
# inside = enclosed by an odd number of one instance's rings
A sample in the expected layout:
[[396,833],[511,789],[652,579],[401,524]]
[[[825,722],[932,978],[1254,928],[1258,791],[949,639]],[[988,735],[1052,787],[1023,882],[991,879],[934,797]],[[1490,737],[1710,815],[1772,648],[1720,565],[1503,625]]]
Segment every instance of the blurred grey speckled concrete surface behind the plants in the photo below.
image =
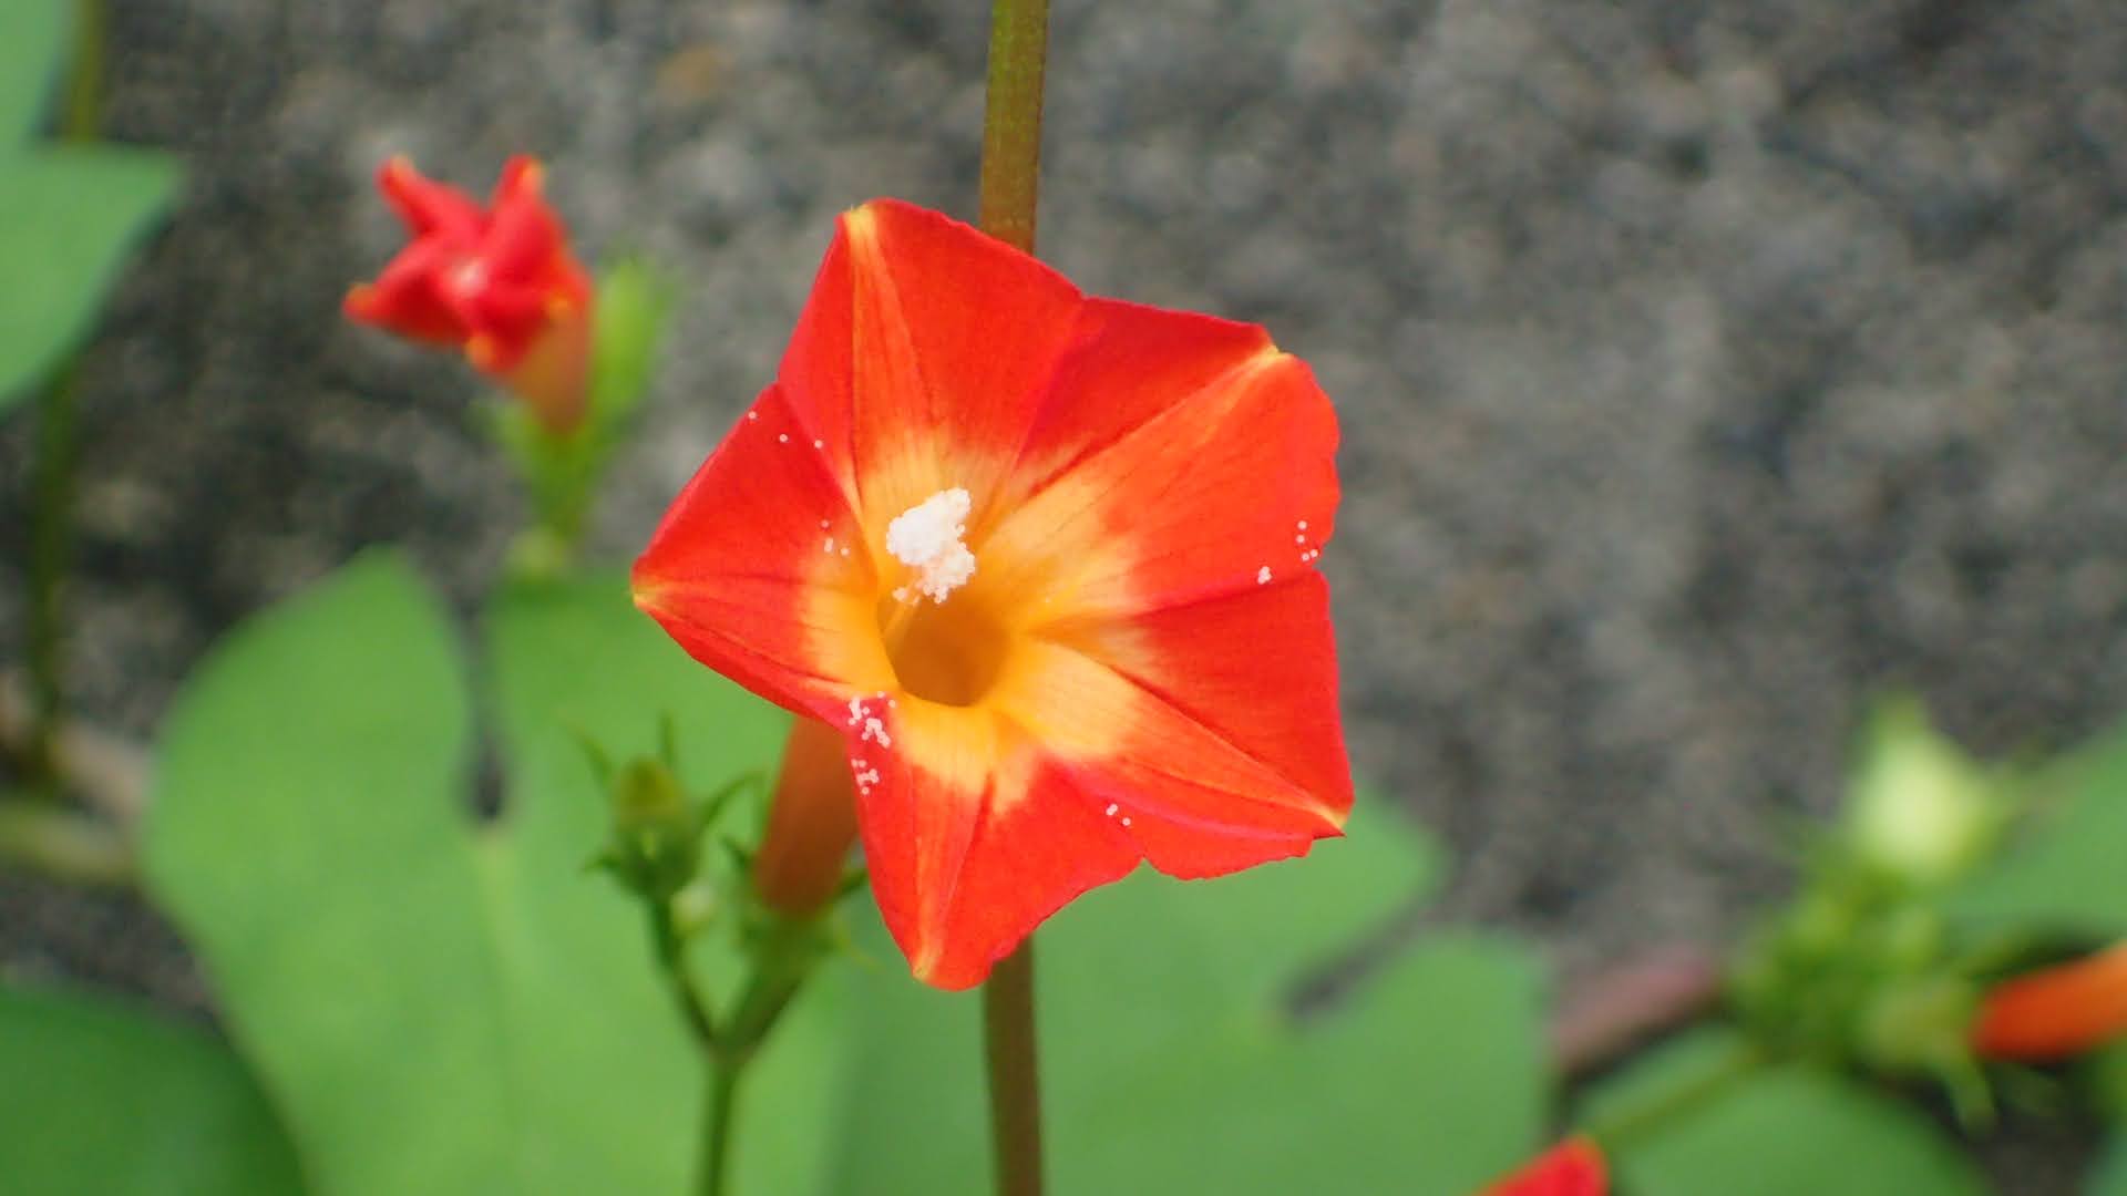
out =
[[[687,279],[615,555],[836,211],[972,206],[987,4],[113,9],[115,130],[191,162],[87,372],[81,685],[134,732],[359,545],[498,568],[476,387],[336,319],[387,151],[481,187],[536,151],[589,249]],[[1878,687],[1989,749],[2127,707],[2116,0],[1057,0],[1055,38],[1044,253],[1266,321],[1340,404],[1353,749],[1461,851],[1453,915],[1570,968],[1710,938]],[[87,930],[123,911],[13,892],[9,958],[128,975]]]

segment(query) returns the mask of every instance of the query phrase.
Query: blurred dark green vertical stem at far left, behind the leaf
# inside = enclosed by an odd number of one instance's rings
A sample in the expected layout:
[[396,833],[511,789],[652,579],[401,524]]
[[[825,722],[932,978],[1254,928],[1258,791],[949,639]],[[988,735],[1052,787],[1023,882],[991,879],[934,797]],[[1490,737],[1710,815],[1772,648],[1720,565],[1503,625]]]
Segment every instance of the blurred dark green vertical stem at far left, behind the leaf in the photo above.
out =
[[[66,140],[96,140],[104,96],[104,4],[74,4],[74,64],[66,81],[60,134]],[[30,779],[57,787],[55,738],[66,700],[62,589],[72,545],[74,458],[79,453],[81,370],[68,364],[45,392],[36,411],[32,458],[34,515],[30,528],[30,609],[26,617],[30,666]]]

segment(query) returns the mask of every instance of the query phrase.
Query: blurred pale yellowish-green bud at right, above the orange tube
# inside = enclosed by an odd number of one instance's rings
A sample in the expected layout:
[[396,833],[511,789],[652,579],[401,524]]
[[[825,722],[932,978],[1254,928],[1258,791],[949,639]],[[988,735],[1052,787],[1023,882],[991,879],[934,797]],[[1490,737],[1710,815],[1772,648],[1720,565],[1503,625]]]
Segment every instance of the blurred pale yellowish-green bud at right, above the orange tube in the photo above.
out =
[[1844,843],[1859,864],[1910,887],[1944,885],[1987,856],[2004,815],[1999,783],[1919,702],[1878,707],[1846,796]]

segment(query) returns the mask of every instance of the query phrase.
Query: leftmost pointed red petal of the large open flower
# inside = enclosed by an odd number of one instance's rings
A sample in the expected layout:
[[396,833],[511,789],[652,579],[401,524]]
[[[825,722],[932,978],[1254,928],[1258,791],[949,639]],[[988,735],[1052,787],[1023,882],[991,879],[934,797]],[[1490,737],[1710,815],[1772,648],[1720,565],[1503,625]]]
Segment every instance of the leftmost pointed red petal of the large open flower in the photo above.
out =
[[689,655],[770,702],[836,719],[893,685],[870,551],[778,385],[672,500],[632,583]]

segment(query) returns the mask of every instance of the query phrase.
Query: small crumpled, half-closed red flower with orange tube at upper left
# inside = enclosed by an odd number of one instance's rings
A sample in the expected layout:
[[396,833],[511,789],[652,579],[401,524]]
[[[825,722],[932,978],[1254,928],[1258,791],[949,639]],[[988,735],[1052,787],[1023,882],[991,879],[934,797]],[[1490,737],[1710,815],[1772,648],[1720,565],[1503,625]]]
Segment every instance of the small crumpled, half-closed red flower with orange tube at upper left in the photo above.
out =
[[351,319],[432,345],[455,345],[474,368],[523,398],[555,434],[583,419],[591,347],[591,279],[540,196],[540,166],[513,157],[483,209],[423,179],[404,157],[376,185],[413,243],[347,292]]

